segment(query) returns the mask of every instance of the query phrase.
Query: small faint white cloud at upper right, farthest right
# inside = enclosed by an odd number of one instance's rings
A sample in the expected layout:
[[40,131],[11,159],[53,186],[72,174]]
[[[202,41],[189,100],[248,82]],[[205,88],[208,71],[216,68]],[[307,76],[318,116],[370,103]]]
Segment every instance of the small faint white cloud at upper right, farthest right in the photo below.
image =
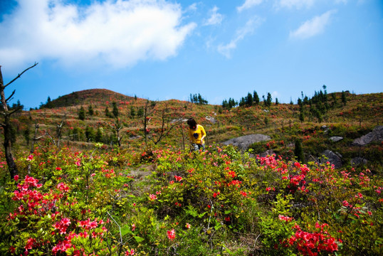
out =
[[325,26],[330,23],[330,17],[336,10],[325,12],[321,16],[315,16],[309,21],[305,21],[298,29],[290,32],[290,38],[305,39],[316,36],[325,30]]

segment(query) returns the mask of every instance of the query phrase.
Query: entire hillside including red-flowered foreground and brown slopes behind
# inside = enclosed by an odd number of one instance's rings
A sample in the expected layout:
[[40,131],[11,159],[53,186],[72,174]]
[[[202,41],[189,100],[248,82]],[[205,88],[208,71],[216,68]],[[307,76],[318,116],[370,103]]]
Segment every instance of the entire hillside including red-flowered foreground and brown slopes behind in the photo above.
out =
[[[65,97],[12,120],[19,172],[11,180],[0,154],[1,255],[383,253],[382,134],[368,135],[382,131],[382,93],[230,110]],[[188,117],[206,128],[206,151],[188,150]],[[271,139],[222,145],[246,134]],[[342,166],[320,164],[323,151]]]

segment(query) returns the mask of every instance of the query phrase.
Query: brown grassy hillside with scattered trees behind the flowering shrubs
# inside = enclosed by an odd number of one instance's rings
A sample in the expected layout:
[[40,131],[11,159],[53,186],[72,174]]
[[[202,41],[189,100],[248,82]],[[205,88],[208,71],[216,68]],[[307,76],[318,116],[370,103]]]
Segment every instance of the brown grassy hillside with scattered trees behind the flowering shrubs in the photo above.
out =
[[[28,133],[31,141],[35,124],[39,124],[39,136],[48,133],[54,139],[58,125],[63,123],[61,140],[70,147],[92,147],[94,142],[116,145],[118,127],[122,148],[142,150],[142,144],[145,144],[144,120],[147,119],[145,145],[153,145],[171,129],[168,136],[156,145],[171,144],[184,149],[188,147],[188,139],[187,125],[183,121],[194,117],[205,127],[208,145],[221,144],[246,134],[266,134],[271,141],[251,146],[255,154],[273,150],[276,154],[293,157],[295,142],[300,139],[305,161],[313,161],[313,157],[319,157],[322,151],[329,149],[341,154],[346,166],[352,159],[360,157],[368,160],[369,168],[379,168],[382,165],[382,144],[360,147],[352,146],[352,142],[382,124],[383,93],[354,95],[347,92],[346,104],[342,103],[341,97],[340,92],[329,94],[327,109],[317,117],[309,104],[300,107],[273,103],[266,107],[260,102],[251,107],[226,110],[220,105],[197,105],[180,100],[154,102],[95,89],[59,97],[50,102],[49,108],[22,112],[14,119],[14,124],[20,148],[27,146],[26,135],[21,134]],[[112,114],[114,103],[118,119]],[[83,120],[79,119],[81,107],[85,111]],[[300,112],[305,114],[303,120],[300,120]],[[336,143],[330,141],[330,137],[335,136],[343,139]],[[41,138],[39,143],[47,138]]]

